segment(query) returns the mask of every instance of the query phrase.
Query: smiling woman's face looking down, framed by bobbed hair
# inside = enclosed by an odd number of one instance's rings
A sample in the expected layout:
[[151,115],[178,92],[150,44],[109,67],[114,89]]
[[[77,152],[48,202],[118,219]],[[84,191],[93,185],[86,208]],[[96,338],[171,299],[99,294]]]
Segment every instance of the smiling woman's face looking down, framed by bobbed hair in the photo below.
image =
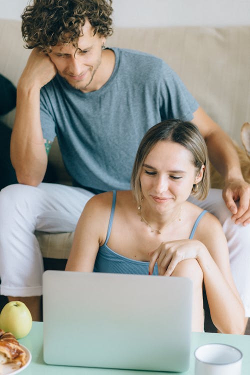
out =
[[191,152],[179,143],[158,141],[146,156],[140,172],[143,205],[163,212],[183,203],[199,182]]

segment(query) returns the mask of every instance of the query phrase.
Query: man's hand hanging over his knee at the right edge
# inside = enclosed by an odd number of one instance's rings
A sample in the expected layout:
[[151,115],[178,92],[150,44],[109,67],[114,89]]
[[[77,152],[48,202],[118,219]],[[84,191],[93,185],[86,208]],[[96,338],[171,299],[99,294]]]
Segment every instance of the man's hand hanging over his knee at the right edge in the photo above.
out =
[[[250,184],[243,179],[228,180],[222,192],[223,199],[235,224],[250,223]],[[238,207],[236,205],[238,201]]]

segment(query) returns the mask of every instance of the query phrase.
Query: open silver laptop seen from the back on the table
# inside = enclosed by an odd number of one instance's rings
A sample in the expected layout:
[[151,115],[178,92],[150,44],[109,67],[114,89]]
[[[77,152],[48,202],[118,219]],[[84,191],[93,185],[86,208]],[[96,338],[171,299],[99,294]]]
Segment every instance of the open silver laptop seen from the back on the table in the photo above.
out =
[[151,371],[189,367],[192,282],[184,277],[47,270],[48,364]]

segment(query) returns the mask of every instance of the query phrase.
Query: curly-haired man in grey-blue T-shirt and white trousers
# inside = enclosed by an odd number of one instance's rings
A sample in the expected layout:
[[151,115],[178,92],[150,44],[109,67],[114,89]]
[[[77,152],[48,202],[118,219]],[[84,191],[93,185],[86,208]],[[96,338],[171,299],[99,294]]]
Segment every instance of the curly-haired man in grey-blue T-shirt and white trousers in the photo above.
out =
[[[0,193],[0,292],[24,301],[38,320],[43,265],[34,230],[74,230],[93,193],[128,189],[143,134],[175,117],[199,127],[211,161],[225,176],[225,204],[220,190],[198,204],[223,225],[249,316],[250,187],[233,145],[162,60],[104,48],[111,12],[111,0],[35,0],[22,15],[22,33],[33,50],[17,85],[11,138],[20,184]],[[40,184],[55,135],[74,187]]]

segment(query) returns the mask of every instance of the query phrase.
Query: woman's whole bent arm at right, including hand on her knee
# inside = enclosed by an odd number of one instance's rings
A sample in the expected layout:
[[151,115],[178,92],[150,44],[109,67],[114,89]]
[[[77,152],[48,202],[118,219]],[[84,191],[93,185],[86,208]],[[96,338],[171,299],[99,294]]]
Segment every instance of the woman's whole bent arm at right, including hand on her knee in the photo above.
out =
[[177,263],[195,258],[203,272],[214,325],[223,333],[243,334],[244,307],[232,279],[227,243],[218,220],[206,213],[195,238],[163,242],[150,253],[149,272],[157,261],[159,274],[171,275]]

